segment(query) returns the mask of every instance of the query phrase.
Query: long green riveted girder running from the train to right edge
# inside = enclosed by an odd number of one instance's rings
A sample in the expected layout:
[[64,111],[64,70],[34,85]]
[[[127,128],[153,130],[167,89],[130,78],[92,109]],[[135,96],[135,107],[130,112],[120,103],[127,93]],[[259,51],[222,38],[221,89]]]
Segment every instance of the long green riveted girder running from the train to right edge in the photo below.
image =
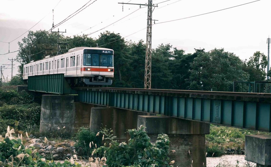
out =
[[77,88],[80,102],[271,132],[271,94]]

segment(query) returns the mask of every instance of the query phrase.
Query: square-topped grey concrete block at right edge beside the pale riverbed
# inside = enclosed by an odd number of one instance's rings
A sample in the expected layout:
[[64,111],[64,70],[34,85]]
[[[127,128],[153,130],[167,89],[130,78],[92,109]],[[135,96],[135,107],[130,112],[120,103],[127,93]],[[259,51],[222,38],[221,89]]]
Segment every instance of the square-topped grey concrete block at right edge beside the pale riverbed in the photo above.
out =
[[271,167],[271,136],[246,135],[245,160],[257,163],[257,167]]

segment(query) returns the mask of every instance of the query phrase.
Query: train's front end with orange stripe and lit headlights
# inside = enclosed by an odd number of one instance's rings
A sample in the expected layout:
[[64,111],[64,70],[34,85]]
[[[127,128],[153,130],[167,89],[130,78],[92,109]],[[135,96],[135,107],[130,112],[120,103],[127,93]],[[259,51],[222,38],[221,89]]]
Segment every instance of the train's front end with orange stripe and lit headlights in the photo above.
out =
[[114,77],[114,51],[86,48],[83,51],[83,82],[86,85],[111,85]]

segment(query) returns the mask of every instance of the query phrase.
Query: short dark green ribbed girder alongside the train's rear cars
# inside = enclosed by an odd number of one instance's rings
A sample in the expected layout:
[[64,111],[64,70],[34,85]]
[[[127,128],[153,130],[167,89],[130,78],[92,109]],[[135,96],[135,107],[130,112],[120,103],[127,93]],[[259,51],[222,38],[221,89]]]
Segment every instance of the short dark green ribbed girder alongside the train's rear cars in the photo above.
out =
[[28,90],[54,94],[75,94],[71,89],[64,74],[28,76]]

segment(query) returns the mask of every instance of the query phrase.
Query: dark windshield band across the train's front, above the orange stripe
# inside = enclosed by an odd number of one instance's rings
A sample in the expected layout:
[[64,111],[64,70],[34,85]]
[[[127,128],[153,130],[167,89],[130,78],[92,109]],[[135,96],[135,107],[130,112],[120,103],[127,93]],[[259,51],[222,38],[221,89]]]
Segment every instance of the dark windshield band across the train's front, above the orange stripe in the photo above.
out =
[[85,53],[83,65],[113,67],[113,55]]

